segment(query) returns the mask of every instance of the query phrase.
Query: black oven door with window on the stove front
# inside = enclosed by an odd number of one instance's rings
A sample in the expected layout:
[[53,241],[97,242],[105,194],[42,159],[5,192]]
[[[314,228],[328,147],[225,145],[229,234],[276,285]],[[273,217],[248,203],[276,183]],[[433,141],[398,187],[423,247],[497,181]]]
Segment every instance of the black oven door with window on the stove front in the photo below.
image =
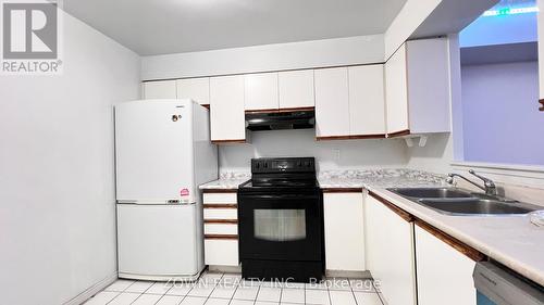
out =
[[321,260],[323,203],[319,191],[238,195],[242,259]]

